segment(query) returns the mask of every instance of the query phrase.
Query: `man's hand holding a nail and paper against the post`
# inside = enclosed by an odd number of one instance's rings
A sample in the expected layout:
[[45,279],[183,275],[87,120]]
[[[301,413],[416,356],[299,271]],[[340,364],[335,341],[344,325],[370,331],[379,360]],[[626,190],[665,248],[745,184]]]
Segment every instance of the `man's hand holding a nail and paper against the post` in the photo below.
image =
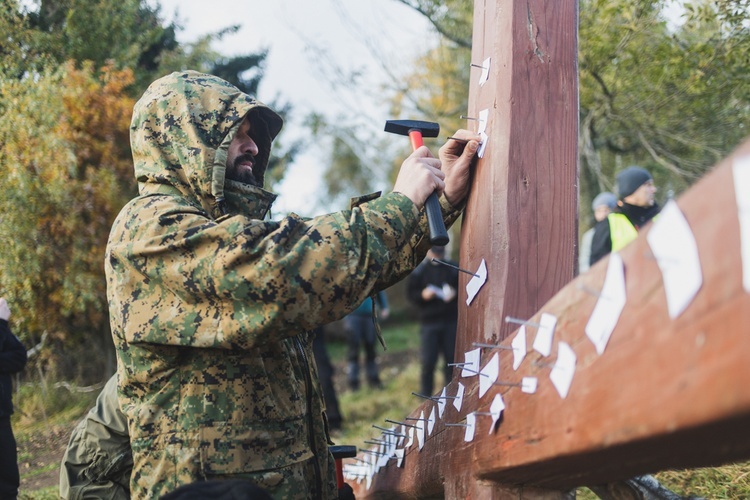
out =
[[481,137],[463,129],[458,130],[453,137],[460,140],[449,139],[440,148],[438,156],[445,174],[445,198],[456,207],[469,194],[469,167],[479,148]]

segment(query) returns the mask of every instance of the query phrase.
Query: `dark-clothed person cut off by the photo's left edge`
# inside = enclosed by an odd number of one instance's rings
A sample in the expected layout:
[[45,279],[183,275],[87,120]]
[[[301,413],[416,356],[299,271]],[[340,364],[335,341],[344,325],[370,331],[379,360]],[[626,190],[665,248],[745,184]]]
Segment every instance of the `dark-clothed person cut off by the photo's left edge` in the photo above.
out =
[[26,348],[10,333],[10,308],[0,298],[0,498],[14,500],[21,482],[18,474],[16,438],[10,425],[13,414],[11,375],[26,365]]

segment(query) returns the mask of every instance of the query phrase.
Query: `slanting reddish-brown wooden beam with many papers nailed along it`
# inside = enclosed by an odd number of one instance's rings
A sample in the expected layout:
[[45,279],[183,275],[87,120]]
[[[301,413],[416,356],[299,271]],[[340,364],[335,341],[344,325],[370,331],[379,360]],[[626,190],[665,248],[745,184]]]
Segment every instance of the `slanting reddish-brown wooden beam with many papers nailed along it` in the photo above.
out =
[[[601,289],[607,260],[569,283],[531,318],[539,321],[543,312],[558,318],[549,357],[529,347],[514,371],[512,353],[497,351],[500,379],[536,376],[536,394],[498,387],[479,398],[478,377],[454,379],[448,394],[456,393],[459,381],[467,386],[462,411],[449,406],[424,449],[409,449],[403,468],[392,462],[381,469],[372,488],[360,490],[362,497],[377,492],[389,497],[464,496],[477,480],[564,490],[665,468],[749,458],[750,294],[742,286],[732,175],[733,158],[739,155],[750,155],[750,142],[678,200],[696,236],[703,273],[701,289],[679,317],[672,320],[667,312],[647,227],[621,252],[627,303],[601,356],[584,333],[597,300],[585,290]],[[462,311],[470,313],[471,308]],[[528,328],[529,346],[534,333]],[[565,399],[549,379],[548,364],[560,341],[577,356]],[[491,354],[485,350],[482,363]],[[471,411],[488,411],[496,392],[503,395],[506,409],[493,432],[487,417],[477,417],[476,438],[465,443],[463,428],[444,425],[463,421]],[[432,405],[427,402],[412,415],[429,413]]]

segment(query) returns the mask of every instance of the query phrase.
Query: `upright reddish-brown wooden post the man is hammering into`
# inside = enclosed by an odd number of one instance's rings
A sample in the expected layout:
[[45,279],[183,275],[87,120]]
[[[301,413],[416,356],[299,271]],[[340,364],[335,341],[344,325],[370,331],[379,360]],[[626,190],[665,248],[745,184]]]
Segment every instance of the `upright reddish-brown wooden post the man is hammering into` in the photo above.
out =
[[[464,216],[461,264],[488,282],[459,311],[457,352],[516,329],[573,278],[578,239],[576,0],[477,0],[469,116],[489,136]],[[469,126],[472,124],[470,123]],[[463,277],[465,284],[466,277]]]

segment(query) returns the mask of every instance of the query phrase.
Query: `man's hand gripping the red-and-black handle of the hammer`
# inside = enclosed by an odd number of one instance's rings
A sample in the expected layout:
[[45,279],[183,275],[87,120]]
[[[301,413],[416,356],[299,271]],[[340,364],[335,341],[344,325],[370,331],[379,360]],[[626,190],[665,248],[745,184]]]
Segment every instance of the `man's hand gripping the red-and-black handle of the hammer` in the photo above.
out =
[[438,194],[445,188],[445,175],[440,171],[440,160],[432,156],[426,146],[409,155],[398,171],[394,193],[401,193],[421,209],[433,191]]

